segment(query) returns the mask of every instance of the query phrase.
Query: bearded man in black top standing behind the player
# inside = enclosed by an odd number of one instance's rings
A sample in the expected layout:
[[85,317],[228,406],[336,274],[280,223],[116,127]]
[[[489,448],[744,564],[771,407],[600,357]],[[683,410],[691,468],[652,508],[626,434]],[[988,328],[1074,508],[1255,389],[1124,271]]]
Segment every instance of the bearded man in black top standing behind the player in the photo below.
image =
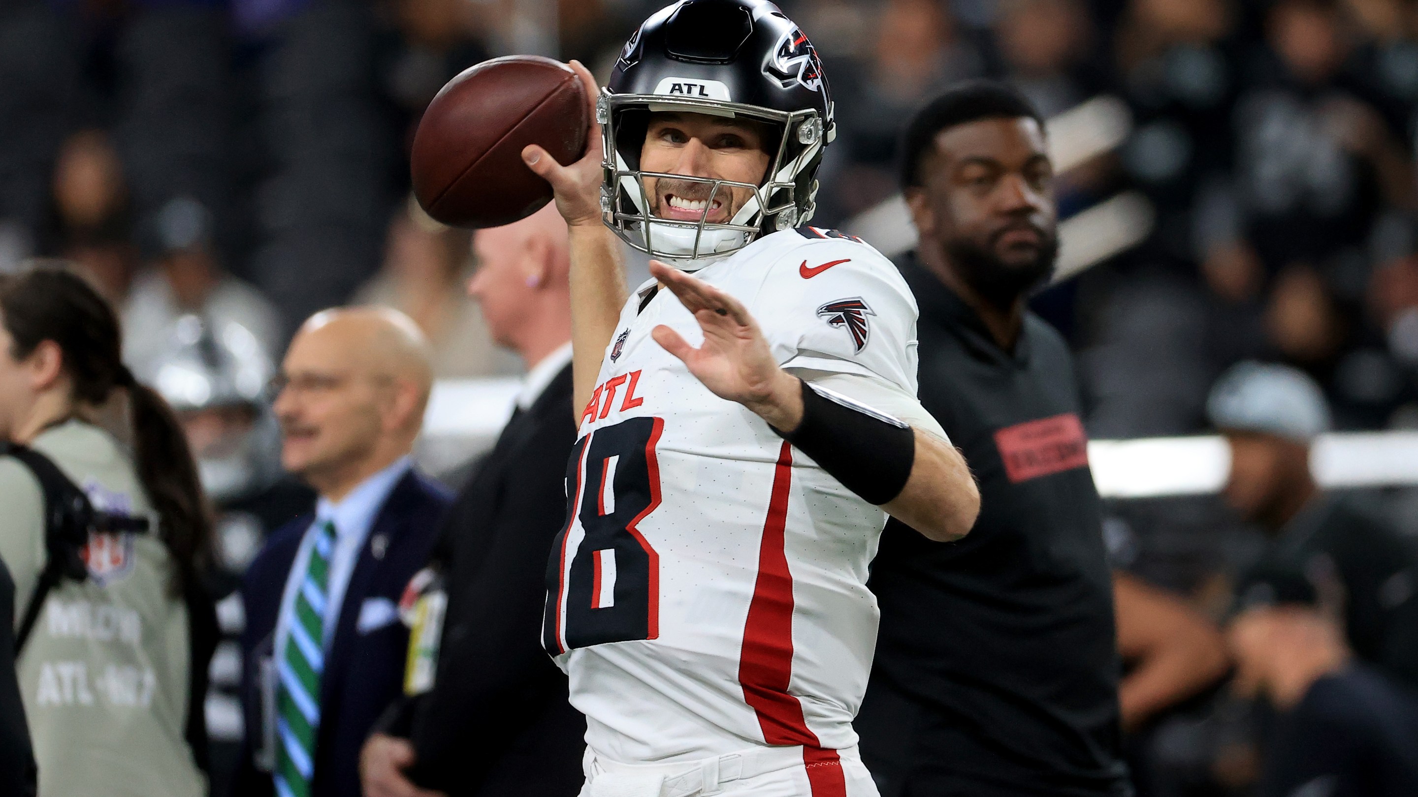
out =
[[920,403],[980,482],[970,535],[892,520],[856,718],[882,797],[1130,794],[1100,508],[1064,339],[1027,312],[1056,250],[1038,112],[967,84],[906,132]]

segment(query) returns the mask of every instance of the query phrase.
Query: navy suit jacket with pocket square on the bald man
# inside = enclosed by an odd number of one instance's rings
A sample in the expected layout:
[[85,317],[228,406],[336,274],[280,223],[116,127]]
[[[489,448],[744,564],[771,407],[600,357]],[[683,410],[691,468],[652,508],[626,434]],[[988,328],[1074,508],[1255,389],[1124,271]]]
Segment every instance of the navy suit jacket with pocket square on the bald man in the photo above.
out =
[[[380,712],[403,689],[408,628],[396,620],[360,634],[356,620],[367,598],[383,597],[398,603],[408,580],[428,562],[450,498],[442,485],[410,471],[390,491],[369,529],[345,590],[320,676],[315,797],[362,794],[359,752]],[[272,793],[271,776],[258,771],[252,759],[254,750],[262,745],[259,659],[271,655],[285,581],[301,539],[313,520],[313,513],[302,515],[277,529],[242,580],[247,628],[241,635],[241,702],[247,737],[233,790],[238,797]]]

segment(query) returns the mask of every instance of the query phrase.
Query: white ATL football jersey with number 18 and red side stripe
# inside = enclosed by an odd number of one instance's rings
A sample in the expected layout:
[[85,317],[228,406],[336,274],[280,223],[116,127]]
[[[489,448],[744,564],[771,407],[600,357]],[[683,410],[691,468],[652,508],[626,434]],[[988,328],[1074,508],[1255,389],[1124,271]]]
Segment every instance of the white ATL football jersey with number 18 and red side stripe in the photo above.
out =
[[[859,240],[786,230],[695,277],[747,305],[784,367],[916,394],[915,298]],[[866,574],[886,515],[655,343],[657,325],[696,346],[703,335],[654,288],[625,303],[581,414],[545,645],[596,756],[803,745],[835,763],[856,743],[878,623]]]

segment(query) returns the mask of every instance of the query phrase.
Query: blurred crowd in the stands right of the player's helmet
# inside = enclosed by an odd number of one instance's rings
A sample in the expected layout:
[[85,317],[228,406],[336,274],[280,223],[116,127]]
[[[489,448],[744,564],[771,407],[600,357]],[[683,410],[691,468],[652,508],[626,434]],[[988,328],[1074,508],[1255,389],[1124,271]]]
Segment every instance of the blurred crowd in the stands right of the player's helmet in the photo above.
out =
[[1246,357],[1324,386],[1339,428],[1415,417],[1418,6],[1404,0],[804,3],[845,143],[828,216],[892,191],[923,92],[1014,82],[1046,116],[1122,98],[1130,133],[1065,174],[1068,216],[1124,190],[1147,240],[1037,299],[1082,355],[1095,437],[1205,425]]

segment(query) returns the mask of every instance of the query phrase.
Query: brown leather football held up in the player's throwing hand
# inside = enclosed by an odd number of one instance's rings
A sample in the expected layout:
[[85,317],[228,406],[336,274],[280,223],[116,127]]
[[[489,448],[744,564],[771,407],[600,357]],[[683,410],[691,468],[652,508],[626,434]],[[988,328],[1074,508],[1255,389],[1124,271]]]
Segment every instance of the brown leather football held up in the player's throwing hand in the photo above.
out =
[[536,213],[552,184],[522,162],[530,143],[557,163],[586,153],[586,88],[570,67],[506,55],[448,81],[418,122],[410,170],[418,204],[444,224],[498,227]]

